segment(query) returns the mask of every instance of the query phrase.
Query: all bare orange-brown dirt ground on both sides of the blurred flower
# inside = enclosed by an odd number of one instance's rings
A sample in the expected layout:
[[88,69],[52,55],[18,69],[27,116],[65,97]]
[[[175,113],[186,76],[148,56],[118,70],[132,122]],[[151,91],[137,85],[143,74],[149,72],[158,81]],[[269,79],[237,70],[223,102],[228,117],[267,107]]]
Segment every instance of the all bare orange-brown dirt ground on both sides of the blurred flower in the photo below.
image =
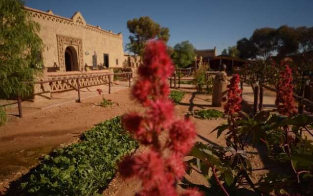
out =
[[[182,85],[181,87],[188,87]],[[181,88],[187,94],[176,105],[176,112],[183,116],[196,109],[218,109],[211,107],[211,96],[196,94],[193,89]],[[10,117],[5,126],[0,127],[0,191],[3,194],[9,182],[20,177],[23,173],[38,164],[38,158],[47,154],[51,149],[62,147],[79,137],[79,135],[100,123],[117,115],[122,115],[142,108],[130,98],[130,90],[125,88],[111,95],[103,95],[118,103],[113,107],[97,106],[101,96],[84,99],[82,103],[68,103],[51,107],[25,116],[20,119]],[[197,141],[225,146],[224,138],[216,138],[216,133],[210,132],[225,120],[200,120],[193,117],[198,133]],[[257,154],[257,149],[251,149],[251,155]],[[263,167],[263,161],[255,156],[254,168]],[[256,173],[257,174],[257,173]],[[192,182],[206,184],[202,176],[192,173],[186,178]],[[140,189],[138,181],[123,181],[118,175],[113,179],[109,189],[103,195],[132,196]],[[1,195],[1,194],[0,194]]]

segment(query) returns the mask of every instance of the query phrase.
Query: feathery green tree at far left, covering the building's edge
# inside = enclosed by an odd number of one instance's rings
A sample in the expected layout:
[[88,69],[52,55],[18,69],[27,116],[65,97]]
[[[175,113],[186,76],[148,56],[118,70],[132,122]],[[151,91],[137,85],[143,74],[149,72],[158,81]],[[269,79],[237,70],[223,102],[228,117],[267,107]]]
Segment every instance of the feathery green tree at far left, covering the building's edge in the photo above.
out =
[[30,20],[21,0],[0,0],[0,98],[28,98],[41,69],[39,25]]

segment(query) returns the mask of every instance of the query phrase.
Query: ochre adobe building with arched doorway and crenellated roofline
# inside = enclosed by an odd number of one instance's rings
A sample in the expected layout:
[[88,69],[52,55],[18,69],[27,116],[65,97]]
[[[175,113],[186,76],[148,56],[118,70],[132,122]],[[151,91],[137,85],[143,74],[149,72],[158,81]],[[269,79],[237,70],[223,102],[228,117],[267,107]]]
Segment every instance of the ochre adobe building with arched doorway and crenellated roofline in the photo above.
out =
[[40,25],[43,40],[42,57],[50,72],[85,72],[110,67],[122,67],[123,35],[86,23],[80,12],[71,18],[33,8],[24,8],[31,20]]

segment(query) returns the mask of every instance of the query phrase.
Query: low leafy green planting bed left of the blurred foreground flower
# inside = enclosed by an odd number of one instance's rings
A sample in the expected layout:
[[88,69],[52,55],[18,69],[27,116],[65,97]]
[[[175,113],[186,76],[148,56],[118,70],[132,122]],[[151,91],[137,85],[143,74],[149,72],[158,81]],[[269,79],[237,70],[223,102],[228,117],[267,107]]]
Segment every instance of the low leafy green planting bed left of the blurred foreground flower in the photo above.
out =
[[138,146],[122,128],[120,117],[96,125],[81,140],[46,155],[24,176],[22,195],[97,195],[114,176],[116,162]]

